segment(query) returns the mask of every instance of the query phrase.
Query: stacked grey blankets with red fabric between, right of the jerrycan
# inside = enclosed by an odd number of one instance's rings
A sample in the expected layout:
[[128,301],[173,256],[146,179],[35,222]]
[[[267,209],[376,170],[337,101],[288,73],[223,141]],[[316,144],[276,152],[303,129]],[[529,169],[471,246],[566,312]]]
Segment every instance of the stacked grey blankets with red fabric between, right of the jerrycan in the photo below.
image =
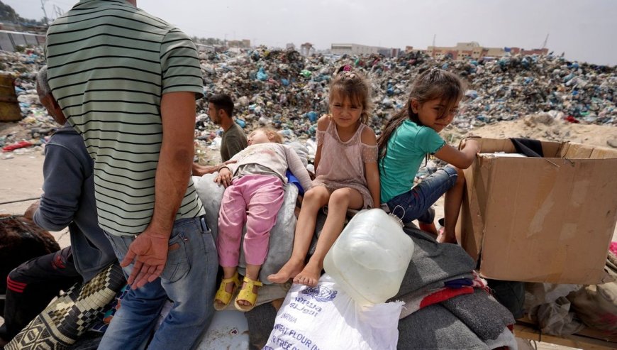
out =
[[405,228],[416,248],[399,294],[399,349],[516,349],[511,312],[474,272],[475,261],[455,244]]

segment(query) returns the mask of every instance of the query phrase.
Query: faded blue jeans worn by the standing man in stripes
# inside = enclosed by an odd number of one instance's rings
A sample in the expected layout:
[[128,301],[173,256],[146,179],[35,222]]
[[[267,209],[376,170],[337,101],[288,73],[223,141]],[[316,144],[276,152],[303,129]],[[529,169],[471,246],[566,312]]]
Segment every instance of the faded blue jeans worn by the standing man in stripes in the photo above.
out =
[[[122,261],[134,236],[108,234],[113,251]],[[145,349],[167,297],[174,304],[148,349],[193,349],[214,315],[218,256],[212,234],[201,217],[174,223],[167,263],[160,278],[130,290],[113,317],[99,349]],[[124,268],[130,275],[133,264]]]

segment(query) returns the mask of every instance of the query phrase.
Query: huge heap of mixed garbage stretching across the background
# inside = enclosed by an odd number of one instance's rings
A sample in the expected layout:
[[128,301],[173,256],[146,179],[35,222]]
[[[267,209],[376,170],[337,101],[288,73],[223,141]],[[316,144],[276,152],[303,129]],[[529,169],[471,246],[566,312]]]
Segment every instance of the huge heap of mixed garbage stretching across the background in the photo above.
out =
[[[198,102],[196,138],[209,145],[221,131],[207,114],[207,97],[228,93],[236,102],[238,124],[252,130],[272,126],[289,140],[314,137],[316,119],[328,112],[328,84],[337,67],[350,64],[370,77],[375,110],[369,121],[377,133],[401,109],[414,77],[430,67],[460,75],[465,100],[453,124],[462,131],[497,121],[546,112],[572,123],[617,125],[617,67],[570,62],[555,55],[510,56],[496,60],[435,60],[421,53],[399,58],[319,54],[264,47],[240,53],[200,53],[206,99]],[[55,124],[35,93],[35,72],[43,50],[0,52],[0,70],[11,72],[23,111],[20,121],[33,143],[45,140]],[[0,147],[21,141],[0,135]]]

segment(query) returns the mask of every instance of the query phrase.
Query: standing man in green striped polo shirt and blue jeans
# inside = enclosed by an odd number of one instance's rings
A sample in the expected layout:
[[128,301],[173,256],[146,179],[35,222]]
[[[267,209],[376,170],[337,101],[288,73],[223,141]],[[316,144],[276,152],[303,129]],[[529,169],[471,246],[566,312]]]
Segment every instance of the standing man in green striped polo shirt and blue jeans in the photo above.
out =
[[196,346],[213,315],[218,257],[191,180],[194,44],[136,0],[82,0],[48,30],[48,79],[94,160],[99,225],[132,289],[99,349]]

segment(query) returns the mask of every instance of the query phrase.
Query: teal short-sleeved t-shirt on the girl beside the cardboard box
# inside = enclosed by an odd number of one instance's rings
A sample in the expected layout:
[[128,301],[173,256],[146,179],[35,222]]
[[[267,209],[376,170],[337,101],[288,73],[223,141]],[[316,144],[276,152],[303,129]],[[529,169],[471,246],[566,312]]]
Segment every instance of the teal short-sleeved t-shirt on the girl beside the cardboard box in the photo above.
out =
[[379,160],[382,203],[411,190],[413,179],[428,153],[433,154],[445,141],[432,128],[406,120],[388,141],[386,156]]

